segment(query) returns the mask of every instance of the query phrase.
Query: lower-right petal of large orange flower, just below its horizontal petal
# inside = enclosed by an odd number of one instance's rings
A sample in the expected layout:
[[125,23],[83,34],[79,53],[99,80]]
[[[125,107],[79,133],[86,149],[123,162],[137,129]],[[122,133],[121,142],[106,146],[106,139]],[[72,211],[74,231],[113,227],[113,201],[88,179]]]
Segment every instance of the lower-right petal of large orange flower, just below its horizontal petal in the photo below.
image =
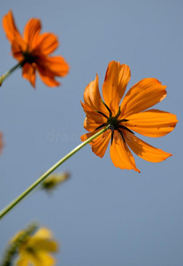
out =
[[172,156],[171,153],[165,153],[133,135],[131,136],[131,139],[127,141],[127,145],[133,150],[133,153],[136,153],[143,160],[151,162],[159,162]]

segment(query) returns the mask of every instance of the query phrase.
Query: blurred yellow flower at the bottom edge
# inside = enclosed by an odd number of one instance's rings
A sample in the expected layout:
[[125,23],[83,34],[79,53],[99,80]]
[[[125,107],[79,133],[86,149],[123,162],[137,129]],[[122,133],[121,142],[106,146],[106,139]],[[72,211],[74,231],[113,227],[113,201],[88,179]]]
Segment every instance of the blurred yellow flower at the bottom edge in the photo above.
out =
[[[18,239],[24,231],[21,231],[14,238]],[[20,242],[18,252],[18,266],[52,266],[56,263],[50,253],[58,250],[57,242],[52,239],[51,232],[46,228],[41,228],[33,236],[27,236]]]

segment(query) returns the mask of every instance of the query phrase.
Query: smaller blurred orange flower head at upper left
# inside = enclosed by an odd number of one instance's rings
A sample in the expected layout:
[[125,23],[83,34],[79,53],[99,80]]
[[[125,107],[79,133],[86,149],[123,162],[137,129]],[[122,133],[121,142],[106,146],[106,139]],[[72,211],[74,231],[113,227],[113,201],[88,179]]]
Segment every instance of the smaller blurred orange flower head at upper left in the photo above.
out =
[[50,57],[50,53],[58,46],[57,36],[51,33],[40,34],[42,25],[37,19],[27,22],[24,34],[21,36],[11,11],[4,16],[3,26],[6,37],[11,42],[12,55],[22,66],[23,77],[34,87],[37,71],[46,85],[58,86],[60,83],[55,77],[65,76],[69,66],[61,56]]

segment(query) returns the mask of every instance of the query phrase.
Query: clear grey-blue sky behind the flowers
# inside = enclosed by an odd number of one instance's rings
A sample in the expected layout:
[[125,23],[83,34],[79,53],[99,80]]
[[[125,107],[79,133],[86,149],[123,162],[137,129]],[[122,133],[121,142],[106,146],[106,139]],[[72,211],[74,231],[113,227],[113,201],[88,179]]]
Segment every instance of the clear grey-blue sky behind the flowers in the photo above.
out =
[[[179,124],[165,137],[141,137],[174,155],[157,164],[135,156],[141,174],[115,168],[109,150],[100,159],[89,145],[83,148],[57,170],[71,172],[68,182],[51,196],[35,192],[0,222],[0,253],[16,231],[37,220],[60,241],[57,265],[182,266],[183,2],[6,0],[1,20],[10,9],[21,32],[34,17],[42,32],[58,35],[56,54],[71,71],[57,89],[38,78],[34,90],[20,70],[0,88],[0,208],[80,144],[83,92],[95,73],[101,88],[113,59],[131,67],[128,89],[146,77],[167,85],[156,108],[176,113]],[[10,51],[0,27],[1,74],[16,64]]]

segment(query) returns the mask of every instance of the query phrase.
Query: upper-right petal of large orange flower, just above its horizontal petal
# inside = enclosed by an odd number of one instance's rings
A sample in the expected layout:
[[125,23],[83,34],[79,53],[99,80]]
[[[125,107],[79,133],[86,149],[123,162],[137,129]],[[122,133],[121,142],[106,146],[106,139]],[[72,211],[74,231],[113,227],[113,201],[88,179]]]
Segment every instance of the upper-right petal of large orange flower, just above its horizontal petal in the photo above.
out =
[[156,105],[166,97],[165,88],[166,86],[163,86],[155,78],[141,80],[126,93],[121,103],[121,113],[126,117]]

